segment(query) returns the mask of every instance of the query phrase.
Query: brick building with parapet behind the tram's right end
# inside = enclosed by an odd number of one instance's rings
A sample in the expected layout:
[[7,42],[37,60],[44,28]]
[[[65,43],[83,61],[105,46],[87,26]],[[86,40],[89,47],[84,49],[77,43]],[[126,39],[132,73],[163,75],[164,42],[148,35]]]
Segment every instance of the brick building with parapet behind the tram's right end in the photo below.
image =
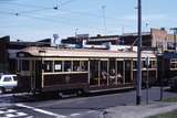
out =
[[[137,33],[124,33],[121,36],[125,45],[137,45]],[[175,50],[175,36],[165,29],[150,29],[150,32],[142,33],[142,46],[155,47],[159,52],[171,52]]]

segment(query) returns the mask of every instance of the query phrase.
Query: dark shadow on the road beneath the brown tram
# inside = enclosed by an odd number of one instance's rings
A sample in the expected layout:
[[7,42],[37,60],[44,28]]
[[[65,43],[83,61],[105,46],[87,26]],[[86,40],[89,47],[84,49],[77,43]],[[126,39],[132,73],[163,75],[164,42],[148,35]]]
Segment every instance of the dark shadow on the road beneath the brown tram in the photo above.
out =
[[[95,96],[104,96],[112,94],[121,94],[127,93],[133,89],[121,89],[121,90],[107,90],[107,92],[98,92],[98,93],[87,93],[82,96],[77,96],[76,94],[62,95],[59,94],[22,94],[22,95],[13,95],[10,99],[11,103],[35,103],[35,101],[46,101],[46,100],[60,100],[60,99],[74,99],[74,98],[86,98],[86,97],[95,97]],[[101,108],[102,109],[102,108]]]

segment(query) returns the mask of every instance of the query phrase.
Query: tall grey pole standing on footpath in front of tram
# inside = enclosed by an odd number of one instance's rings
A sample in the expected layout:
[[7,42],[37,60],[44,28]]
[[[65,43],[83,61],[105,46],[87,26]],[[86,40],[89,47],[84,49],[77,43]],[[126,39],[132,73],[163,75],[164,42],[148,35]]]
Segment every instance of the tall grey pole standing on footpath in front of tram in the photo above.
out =
[[136,82],[136,105],[140,105],[142,97],[142,0],[138,0],[138,50],[137,50],[137,82]]

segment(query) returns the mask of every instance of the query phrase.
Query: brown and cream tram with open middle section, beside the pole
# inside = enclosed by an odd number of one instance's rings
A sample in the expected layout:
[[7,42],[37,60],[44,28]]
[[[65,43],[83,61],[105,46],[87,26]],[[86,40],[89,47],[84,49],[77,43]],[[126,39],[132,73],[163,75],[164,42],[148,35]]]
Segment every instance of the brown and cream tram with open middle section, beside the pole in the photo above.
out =
[[[142,54],[143,82],[157,79],[157,57]],[[18,52],[18,87],[23,92],[101,92],[134,88],[137,53],[88,49],[27,47]]]

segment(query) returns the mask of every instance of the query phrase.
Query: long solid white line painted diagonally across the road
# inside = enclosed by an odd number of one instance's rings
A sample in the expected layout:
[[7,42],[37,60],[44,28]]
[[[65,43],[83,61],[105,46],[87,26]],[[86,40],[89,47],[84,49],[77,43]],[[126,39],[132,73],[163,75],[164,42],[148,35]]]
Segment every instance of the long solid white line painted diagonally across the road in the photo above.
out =
[[32,110],[41,112],[41,114],[45,114],[45,115],[49,115],[49,116],[54,116],[56,118],[66,118],[66,116],[54,114],[54,112],[46,111],[46,110],[43,110],[43,109],[39,109],[39,108],[35,108],[35,107],[27,106],[27,105],[23,105],[23,104],[15,104],[15,106],[32,109]]

